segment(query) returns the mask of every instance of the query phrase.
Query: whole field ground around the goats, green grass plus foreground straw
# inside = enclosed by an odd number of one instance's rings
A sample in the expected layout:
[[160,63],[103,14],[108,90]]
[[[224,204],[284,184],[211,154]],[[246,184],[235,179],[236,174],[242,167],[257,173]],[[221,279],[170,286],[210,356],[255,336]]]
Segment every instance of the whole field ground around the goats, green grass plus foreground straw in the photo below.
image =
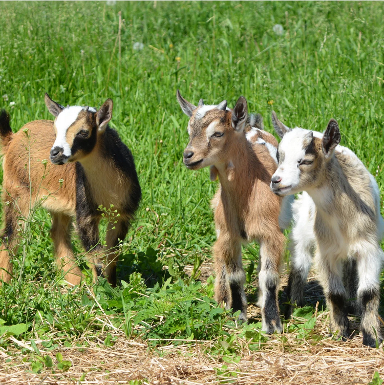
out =
[[[272,109],[317,131],[337,119],[342,144],[383,194],[382,20],[381,2],[1,2],[0,106],[13,130],[51,119],[45,92],[63,105],[112,98],[112,126],[134,154],[143,200],[122,246],[121,285],[100,280],[95,297],[91,280],[75,290],[63,283],[50,218],[35,212],[15,279],[0,288],[0,383],[380,384],[383,350],[362,347],[358,333],[332,339],[313,280],[309,306],[282,335],[264,335],[259,322],[238,327],[216,307],[217,183],[182,164],[187,118],[176,89],[230,107],[244,95],[269,132]],[[87,272],[76,237],[74,248]],[[257,321],[258,246],[243,255]]]

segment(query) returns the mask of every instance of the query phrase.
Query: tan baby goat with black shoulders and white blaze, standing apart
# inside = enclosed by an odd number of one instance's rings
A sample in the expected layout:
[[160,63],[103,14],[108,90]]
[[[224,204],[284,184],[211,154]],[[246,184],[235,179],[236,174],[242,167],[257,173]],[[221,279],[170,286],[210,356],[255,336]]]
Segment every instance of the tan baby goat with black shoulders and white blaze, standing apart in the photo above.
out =
[[[98,111],[88,106],[63,108],[48,94],[45,102],[55,121],[36,120],[16,134],[9,125],[9,115],[4,110],[1,112],[5,228],[1,236],[0,278],[5,282],[11,279],[9,250],[15,252],[18,246],[20,217],[28,217],[33,208],[30,202],[32,205],[41,202],[52,215],[55,258],[65,271],[66,280],[78,285],[82,279],[70,237],[72,217],[76,217],[76,228],[94,279],[103,271],[108,281],[116,285],[116,247],[126,236],[141,190],[131,151],[108,125],[112,100],[106,100]],[[48,157],[52,163],[45,168],[41,161]],[[29,162],[30,166],[25,167]],[[98,207],[110,208],[111,204],[119,216],[109,224],[103,250],[98,227],[102,213]]]

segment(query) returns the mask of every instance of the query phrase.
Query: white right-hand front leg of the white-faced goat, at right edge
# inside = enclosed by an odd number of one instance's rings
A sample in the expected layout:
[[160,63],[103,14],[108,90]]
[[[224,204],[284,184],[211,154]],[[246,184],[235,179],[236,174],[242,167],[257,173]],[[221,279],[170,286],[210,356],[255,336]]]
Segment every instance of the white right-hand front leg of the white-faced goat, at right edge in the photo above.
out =
[[361,248],[357,259],[357,304],[361,311],[362,344],[376,347],[382,342],[378,307],[380,303],[380,271],[384,253],[377,245]]

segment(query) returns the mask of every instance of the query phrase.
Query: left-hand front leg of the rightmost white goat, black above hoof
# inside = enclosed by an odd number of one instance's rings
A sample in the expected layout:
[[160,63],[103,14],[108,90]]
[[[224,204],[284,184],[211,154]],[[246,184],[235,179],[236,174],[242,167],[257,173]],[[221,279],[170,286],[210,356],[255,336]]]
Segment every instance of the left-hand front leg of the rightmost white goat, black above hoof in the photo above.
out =
[[317,248],[316,263],[330,312],[331,330],[345,341],[349,338],[349,320],[346,308],[346,291],[343,285],[343,258],[331,255],[329,250]]

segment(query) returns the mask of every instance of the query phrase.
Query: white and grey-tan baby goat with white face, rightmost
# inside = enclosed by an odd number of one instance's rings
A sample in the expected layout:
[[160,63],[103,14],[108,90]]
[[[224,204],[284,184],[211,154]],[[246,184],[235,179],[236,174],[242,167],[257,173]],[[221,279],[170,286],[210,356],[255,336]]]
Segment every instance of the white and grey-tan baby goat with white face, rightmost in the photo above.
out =
[[336,120],[329,121],[324,134],[299,128],[291,130],[274,112],[272,121],[283,139],[271,188],[279,196],[305,191],[295,203],[288,288],[291,302],[304,299],[304,283],[311,265],[311,251],[315,248],[331,328],[348,338],[346,299],[351,291],[346,292],[343,284],[343,270],[346,274],[343,265],[350,269],[355,264],[358,275],[345,279],[352,286],[354,280],[357,283],[362,343],[375,347],[376,338],[379,343],[382,341],[378,306],[384,256],[380,247],[384,222],[375,178],[350,149],[339,145]]

